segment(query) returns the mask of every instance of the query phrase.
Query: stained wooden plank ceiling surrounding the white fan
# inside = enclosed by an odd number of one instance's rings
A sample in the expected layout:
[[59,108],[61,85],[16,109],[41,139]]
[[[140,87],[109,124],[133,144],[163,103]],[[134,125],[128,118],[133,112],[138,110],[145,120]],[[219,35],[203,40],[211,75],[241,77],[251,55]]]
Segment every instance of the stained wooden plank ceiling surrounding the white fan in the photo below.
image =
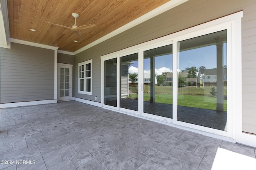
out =
[[[74,52],[170,0],[8,0],[10,37]],[[94,23],[80,30],[83,39],[68,28]],[[35,32],[29,29],[36,29]],[[77,43],[74,43],[77,40]]]

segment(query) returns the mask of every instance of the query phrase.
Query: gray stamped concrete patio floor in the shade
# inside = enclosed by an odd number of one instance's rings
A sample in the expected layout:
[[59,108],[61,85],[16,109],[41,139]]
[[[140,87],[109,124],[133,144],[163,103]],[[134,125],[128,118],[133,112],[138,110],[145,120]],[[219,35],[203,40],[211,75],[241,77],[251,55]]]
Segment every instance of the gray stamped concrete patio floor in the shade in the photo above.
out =
[[5,170],[210,170],[218,147],[256,158],[252,147],[76,101],[0,114],[0,160],[27,161]]

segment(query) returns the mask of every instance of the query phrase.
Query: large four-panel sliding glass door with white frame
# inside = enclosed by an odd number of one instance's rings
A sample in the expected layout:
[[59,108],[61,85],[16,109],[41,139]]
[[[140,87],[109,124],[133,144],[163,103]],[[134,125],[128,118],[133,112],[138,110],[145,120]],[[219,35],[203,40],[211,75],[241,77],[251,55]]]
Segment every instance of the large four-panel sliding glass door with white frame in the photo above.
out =
[[103,106],[232,137],[231,83],[238,79],[230,27],[175,33],[103,56]]

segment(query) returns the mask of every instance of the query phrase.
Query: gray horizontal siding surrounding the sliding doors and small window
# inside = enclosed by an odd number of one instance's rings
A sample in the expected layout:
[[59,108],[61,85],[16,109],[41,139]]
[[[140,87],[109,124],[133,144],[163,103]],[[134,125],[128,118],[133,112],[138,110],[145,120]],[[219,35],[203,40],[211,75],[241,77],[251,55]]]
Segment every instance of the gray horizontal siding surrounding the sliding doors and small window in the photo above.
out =
[[150,20],[144,21],[123,33],[75,55],[73,95],[78,98],[94,100],[91,96],[80,95],[77,93],[78,63],[88,59],[93,59],[92,96],[97,95],[98,99],[100,99],[100,56],[150,41],[164,35],[169,35],[241,10],[244,11],[244,17],[242,18],[242,128],[243,131],[256,134],[256,121],[252,123],[251,121],[247,121],[247,117],[244,117],[249,115],[253,119],[256,118],[256,98],[252,99],[247,95],[248,91],[250,91],[254,96],[256,96],[254,90],[256,86],[255,0],[189,0],[180,6],[155,16]]

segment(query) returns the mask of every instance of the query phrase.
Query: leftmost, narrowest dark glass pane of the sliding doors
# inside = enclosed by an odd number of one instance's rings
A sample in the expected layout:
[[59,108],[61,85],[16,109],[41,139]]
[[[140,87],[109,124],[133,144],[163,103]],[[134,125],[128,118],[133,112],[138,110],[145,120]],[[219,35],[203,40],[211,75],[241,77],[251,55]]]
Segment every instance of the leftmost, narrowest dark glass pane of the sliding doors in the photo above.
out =
[[104,61],[104,104],[117,106],[117,77],[116,77],[117,59]]

